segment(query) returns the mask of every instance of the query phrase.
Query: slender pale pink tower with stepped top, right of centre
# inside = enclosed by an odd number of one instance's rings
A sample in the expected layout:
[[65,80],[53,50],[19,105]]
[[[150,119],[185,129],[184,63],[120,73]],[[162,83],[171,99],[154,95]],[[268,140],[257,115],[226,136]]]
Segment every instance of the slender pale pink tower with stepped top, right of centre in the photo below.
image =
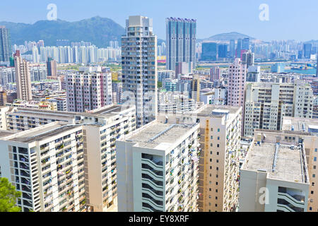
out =
[[228,73],[228,105],[244,107],[247,64],[236,58]]

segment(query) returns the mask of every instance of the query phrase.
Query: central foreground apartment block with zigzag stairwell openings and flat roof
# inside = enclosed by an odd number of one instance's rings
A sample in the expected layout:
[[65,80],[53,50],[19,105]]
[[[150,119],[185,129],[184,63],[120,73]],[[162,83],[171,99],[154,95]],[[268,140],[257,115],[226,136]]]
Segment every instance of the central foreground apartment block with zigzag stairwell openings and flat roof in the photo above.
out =
[[196,212],[199,124],[153,121],[117,140],[119,212]]

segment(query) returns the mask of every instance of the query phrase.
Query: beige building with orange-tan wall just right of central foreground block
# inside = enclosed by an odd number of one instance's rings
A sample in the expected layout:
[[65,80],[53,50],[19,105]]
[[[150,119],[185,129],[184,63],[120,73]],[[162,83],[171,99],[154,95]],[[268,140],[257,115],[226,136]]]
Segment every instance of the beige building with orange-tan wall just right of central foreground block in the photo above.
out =
[[158,121],[199,122],[199,211],[235,211],[242,107],[204,105],[192,113],[159,115]]

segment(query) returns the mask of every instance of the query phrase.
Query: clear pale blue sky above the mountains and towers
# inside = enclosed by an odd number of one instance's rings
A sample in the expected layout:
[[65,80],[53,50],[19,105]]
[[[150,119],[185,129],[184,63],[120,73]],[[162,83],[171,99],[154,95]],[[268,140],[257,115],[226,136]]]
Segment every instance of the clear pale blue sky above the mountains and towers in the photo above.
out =
[[[0,21],[35,23],[46,20],[47,6],[56,4],[57,18],[77,21],[110,18],[124,27],[129,16],[153,18],[155,35],[165,40],[165,18],[194,18],[196,37],[240,32],[259,40],[318,40],[317,0],[16,0],[0,5]],[[260,20],[261,4],[269,20]]]

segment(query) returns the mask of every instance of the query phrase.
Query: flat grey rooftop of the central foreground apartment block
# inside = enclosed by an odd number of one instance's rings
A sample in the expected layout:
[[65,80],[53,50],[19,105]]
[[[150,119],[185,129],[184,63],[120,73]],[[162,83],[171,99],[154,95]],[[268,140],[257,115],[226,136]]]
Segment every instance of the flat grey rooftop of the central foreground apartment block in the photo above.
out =
[[163,124],[155,121],[140,131],[136,131],[125,141],[138,143],[142,148],[166,150],[187,134],[196,124]]

